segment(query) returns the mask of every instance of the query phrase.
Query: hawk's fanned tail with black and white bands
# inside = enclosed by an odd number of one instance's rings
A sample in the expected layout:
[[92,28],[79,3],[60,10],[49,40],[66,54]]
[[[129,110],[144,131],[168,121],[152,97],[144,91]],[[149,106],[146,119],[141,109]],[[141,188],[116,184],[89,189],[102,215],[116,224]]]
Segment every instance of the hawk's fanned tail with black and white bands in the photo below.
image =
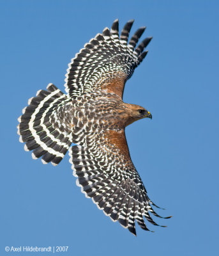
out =
[[22,110],[17,128],[20,142],[26,143],[24,149],[33,150],[33,159],[42,157],[44,164],[51,162],[53,165],[63,159],[72,144],[72,135],[65,131],[58,114],[59,109],[70,101],[54,84],[28,100],[29,106]]

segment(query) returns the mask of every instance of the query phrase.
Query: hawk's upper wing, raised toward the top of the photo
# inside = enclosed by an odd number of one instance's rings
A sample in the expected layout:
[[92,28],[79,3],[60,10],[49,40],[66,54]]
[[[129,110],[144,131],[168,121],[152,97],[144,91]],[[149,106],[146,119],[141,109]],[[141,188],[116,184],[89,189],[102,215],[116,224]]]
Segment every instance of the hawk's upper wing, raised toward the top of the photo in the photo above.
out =
[[125,24],[119,38],[118,20],[115,20],[111,30],[105,28],[76,54],[68,65],[64,84],[70,97],[98,90],[123,97],[125,82],[146,56],[147,51],[143,50],[151,40],[148,37],[135,47],[144,32],[145,27],[142,27],[128,43],[132,24],[133,20]]

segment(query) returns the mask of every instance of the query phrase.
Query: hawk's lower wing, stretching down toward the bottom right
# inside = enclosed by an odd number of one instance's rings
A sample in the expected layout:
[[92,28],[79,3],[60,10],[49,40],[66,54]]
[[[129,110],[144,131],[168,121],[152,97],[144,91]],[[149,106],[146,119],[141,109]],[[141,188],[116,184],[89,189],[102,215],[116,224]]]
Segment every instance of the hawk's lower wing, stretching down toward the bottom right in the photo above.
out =
[[143,217],[157,225],[149,216],[158,216],[151,207],[155,204],[130,159],[125,131],[78,132],[73,140],[79,146],[70,148],[70,163],[82,192],[133,234],[135,220],[144,230],[148,228]]

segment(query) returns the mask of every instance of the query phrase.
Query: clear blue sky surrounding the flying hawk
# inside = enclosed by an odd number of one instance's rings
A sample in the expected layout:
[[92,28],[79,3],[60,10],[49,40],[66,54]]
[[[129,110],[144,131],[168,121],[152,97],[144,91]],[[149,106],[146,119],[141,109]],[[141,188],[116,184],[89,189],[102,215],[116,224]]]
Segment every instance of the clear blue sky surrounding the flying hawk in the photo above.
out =
[[[79,3],[80,2],[80,3]],[[218,1],[0,1],[1,255],[5,246],[69,246],[57,255],[219,255]],[[124,101],[153,120],[126,128],[133,163],[167,228],[113,223],[75,184],[68,155],[33,160],[17,118],[36,91],[64,92],[71,58],[118,18],[153,36]]]

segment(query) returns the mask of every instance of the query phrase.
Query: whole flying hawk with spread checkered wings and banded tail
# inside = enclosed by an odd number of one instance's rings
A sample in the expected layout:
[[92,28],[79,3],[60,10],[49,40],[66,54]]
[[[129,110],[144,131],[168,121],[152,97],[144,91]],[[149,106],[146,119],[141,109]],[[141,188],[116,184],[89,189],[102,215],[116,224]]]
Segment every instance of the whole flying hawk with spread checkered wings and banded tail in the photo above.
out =
[[[135,221],[144,230],[144,218],[155,205],[130,158],[125,127],[152,118],[141,106],[123,102],[123,89],[145,58],[151,37],[137,45],[146,29],[137,29],[130,41],[133,20],[119,36],[119,22],[103,29],[68,65],[66,94],[54,84],[28,100],[19,117],[18,134],[32,157],[57,165],[69,151],[73,175],[82,193],[111,218],[136,235]],[[72,147],[70,147],[74,143]],[[159,207],[158,207],[159,208]],[[170,218],[170,217],[166,217]],[[161,226],[164,227],[164,226]]]

